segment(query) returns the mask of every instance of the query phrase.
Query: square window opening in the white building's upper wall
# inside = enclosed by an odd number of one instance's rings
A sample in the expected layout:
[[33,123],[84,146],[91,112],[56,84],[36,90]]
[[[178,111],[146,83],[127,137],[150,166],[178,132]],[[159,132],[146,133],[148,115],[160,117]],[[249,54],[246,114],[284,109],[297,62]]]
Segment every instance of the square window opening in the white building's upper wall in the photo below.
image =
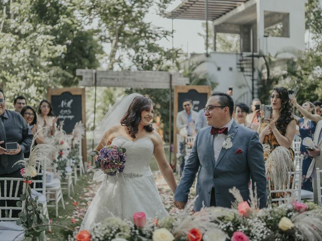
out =
[[264,11],[264,35],[290,37],[290,14]]

